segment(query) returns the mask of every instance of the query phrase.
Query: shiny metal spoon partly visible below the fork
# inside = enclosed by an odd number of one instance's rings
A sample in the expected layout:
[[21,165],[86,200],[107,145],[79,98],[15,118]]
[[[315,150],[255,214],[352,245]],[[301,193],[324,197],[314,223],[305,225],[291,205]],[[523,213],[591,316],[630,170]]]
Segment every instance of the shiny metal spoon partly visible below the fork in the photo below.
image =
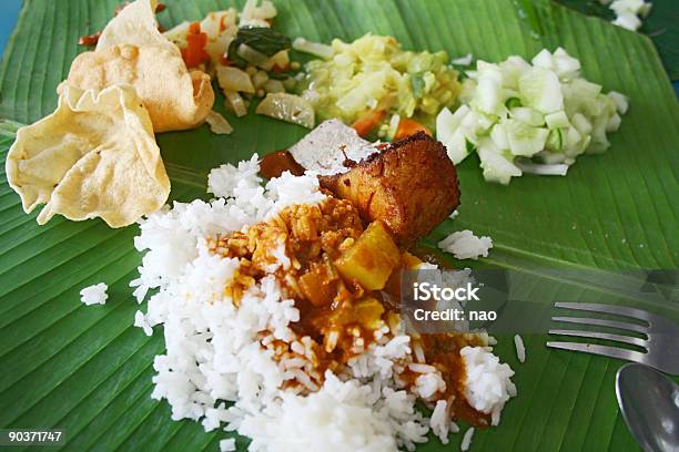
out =
[[679,451],[679,384],[648,366],[629,363],[618,370],[616,394],[646,452]]

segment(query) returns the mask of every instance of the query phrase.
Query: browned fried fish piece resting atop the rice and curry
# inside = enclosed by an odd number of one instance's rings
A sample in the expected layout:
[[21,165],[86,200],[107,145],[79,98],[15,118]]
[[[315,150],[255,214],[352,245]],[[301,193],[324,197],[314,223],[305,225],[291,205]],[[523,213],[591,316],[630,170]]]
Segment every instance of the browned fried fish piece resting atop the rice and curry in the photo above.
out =
[[423,132],[320,181],[354,203],[364,220],[382,220],[401,247],[429,234],[459,205],[455,165],[445,146]]

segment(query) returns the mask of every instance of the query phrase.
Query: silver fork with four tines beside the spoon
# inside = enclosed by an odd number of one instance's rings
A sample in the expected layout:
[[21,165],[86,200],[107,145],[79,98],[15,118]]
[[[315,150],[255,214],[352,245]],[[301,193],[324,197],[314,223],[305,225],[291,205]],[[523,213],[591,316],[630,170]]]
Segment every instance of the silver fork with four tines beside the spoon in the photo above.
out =
[[578,338],[607,339],[620,343],[640,347],[645,352],[619,347],[601,346],[582,342],[547,342],[547,347],[582,351],[585,353],[601,355],[650,366],[662,372],[679,374],[679,327],[663,317],[655,314],[615,305],[596,302],[557,302],[554,306],[565,309],[577,309],[590,312],[612,314],[615,316],[632,318],[646,322],[646,326],[627,321],[582,318],[582,317],[553,317],[551,320],[568,323],[594,325],[635,331],[646,336],[646,339],[615,335],[609,332],[582,331],[570,329],[550,329],[550,335],[572,336]]

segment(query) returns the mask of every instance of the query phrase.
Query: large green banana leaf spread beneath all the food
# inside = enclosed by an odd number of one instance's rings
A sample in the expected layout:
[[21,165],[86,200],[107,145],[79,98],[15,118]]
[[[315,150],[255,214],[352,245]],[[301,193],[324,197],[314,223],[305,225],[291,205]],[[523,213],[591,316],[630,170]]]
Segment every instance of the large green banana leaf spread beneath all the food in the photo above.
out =
[[[31,123],[50,113],[55,88],[84,49],[78,38],[103,28],[118,1],[26,0],[0,68],[0,117]],[[159,14],[168,28],[242,2],[170,0]],[[510,269],[526,278],[535,306],[516,316],[548,319],[563,297],[539,278],[543,269],[679,267],[677,210],[679,105],[658,53],[645,35],[555,4],[534,2],[533,21],[511,0],[295,0],[276,1],[275,28],[291,37],[330,42],[372,32],[392,34],[413,50],[472,52],[499,61],[531,58],[563,45],[582,62],[587,79],[630,96],[631,107],[612,146],[585,156],[567,177],[524,176],[510,186],[484,182],[475,157],[458,167],[459,216],[425,243],[465,228],[494,239],[477,266]],[[217,100],[222,109],[222,99]],[[206,126],[158,136],[172,179],[172,198],[205,197],[205,174],[285,148],[305,130],[267,117],[235,119],[230,136]],[[4,160],[12,124],[0,130]],[[0,170],[2,171],[2,170]],[[675,199],[675,201],[672,201]],[[39,227],[26,215],[6,177],[0,181],[0,429],[64,431],[62,448],[84,450],[216,450],[233,433],[205,433],[196,422],[170,420],[166,402],[151,399],[153,356],[164,348],[161,327],[151,338],[133,328],[139,308],[128,287],[141,256],[136,227],[110,229],[100,220],[54,218]],[[468,265],[468,263],[460,263]],[[538,276],[536,276],[538,275]],[[536,279],[537,278],[537,279]],[[85,307],[79,290],[105,281],[109,301]],[[620,299],[649,310],[672,308],[629,300],[597,284],[568,282],[571,300]],[[561,286],[559,286],[561,287]],[[622,302],[620,301],[620,302]],[[676,302],[673,304],[676,310]],[[614,379],[621,361],[550,350],[548,336],[526,335],[528,360],[519,364],[511,335],[497,352],[517,371],[519,396],[498,428],[477,431],[473,450],[635,450],[618,412]],[[453,450],[432,440],[422,451]],[[237,438],[239,450],[247,439]]]

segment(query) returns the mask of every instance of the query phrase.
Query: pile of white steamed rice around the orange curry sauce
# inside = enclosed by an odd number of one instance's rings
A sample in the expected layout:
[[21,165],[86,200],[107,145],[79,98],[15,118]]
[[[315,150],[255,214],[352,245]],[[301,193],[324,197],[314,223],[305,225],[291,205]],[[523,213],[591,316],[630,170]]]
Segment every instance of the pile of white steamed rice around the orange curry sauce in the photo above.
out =
[[[222,165],[209,177],[213,201],[174,203],[141,222],[134,245],[145,255],[131,286],[139,302],[149,290],[154,295],[135,325],[151,335],[162,323],[166,346],[153,363],[152,397],[170,403],[173,420],[192,419],[206,431],[223,428],[251,438],[251,451],[413,450],[429,431],[447,443],[448,433],[458,431],[447,402],[436,401],[426,418],[415,408],[416,396],[395,381],[394,361],[412,355],[411,338],[398,331],[353,359],[346,372],[327,371],[324,384],[308,396],[281,389],[290,379],[303,380],[302,372],[294,363],[276,362],[257,333],[268,330],[275,339],[295,341],[290,322],[300,312],[294,300],[285,299],[276,279],[266,276],[236,308],[224,288],[239,261],[209,253],[205,237],[246,229],[285,206],[320,203],[325,195],[313,175],[286,173],[262,186],[257,172],[256,155],[237,167]],[[466,347],[462,356],[469,404],[497,423],[505,402],[516,394],[514,372],[488,347]],[[432,366],[411,366],[423,373],[414,390],[419,397],[445,384]],[[234,442],[224,440],[221,448],[232,450]]]

